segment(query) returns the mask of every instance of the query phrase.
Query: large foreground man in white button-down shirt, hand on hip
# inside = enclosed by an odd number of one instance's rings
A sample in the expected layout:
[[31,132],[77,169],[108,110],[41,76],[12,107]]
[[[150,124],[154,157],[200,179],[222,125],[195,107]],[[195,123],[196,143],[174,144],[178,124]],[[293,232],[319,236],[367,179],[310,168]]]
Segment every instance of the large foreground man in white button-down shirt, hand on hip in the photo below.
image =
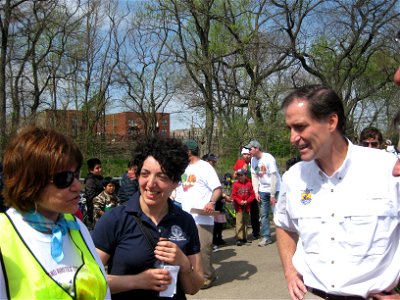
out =
[[328,87],[297,89],[282,107],[302,159],[283,175],[274,214],[291,298],[394,299],[387,294],[400,279],[396,158],[344,136],[343,104]]

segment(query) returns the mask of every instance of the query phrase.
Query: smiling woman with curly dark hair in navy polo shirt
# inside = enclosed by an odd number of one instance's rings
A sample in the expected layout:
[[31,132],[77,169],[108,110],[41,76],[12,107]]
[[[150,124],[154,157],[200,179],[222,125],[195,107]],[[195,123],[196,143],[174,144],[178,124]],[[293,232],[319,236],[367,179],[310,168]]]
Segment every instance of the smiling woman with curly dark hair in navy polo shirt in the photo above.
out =
[[108,265],[112,298],[186,299],[203,284],[196,224],[170,199],[188,164],[187,148],[176,139],[144,138],[133,161],[139,192],[104,214],[92,235]]

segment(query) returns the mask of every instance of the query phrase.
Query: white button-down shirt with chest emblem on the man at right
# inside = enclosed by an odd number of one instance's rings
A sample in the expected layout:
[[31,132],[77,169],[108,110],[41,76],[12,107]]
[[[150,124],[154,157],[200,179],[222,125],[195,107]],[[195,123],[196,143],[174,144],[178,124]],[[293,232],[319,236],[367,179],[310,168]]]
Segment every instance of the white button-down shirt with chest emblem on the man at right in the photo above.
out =
[[297,232],[293,264],[307,286],[338,295],[391,290],[400,278],[396,159],[349,142],[342,166],[327,176],[300,162],[283,175],[277,226]]

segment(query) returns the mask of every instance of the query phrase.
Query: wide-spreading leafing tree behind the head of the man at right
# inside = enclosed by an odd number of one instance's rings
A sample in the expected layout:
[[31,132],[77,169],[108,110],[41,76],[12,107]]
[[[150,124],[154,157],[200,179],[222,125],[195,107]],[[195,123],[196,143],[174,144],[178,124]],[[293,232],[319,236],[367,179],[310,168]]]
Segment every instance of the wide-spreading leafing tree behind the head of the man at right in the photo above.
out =
[[[315,81],[342,95],[350,137],[363,101],[379,100],[392,85],[388,36],[399,24],[398,1],[271,1],[291,55]],[[283,21],[284,20],[284,21]],[[296,84],[296,83],[295,83]],[[386,94],[387,96],[387,94]]]

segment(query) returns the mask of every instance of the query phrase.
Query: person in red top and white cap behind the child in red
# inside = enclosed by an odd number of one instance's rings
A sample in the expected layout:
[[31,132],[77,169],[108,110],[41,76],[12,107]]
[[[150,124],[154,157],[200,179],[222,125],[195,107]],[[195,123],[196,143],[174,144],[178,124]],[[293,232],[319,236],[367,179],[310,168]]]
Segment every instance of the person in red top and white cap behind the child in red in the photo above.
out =
[[[233,165],[233,170],[235,171],[233,177],[237,179],[237,171],[243,169],[246,171],[247,178],[250,179],[251,183],[251,173],[249,170],[249,163],[251,160],[250,150],[243,148],[241,151],[242,158],[238,159]],[[251,202],[250,207],[250,224],[252,229],[252,234],[254,239],[260,238],[260,208],[257,201]]]

